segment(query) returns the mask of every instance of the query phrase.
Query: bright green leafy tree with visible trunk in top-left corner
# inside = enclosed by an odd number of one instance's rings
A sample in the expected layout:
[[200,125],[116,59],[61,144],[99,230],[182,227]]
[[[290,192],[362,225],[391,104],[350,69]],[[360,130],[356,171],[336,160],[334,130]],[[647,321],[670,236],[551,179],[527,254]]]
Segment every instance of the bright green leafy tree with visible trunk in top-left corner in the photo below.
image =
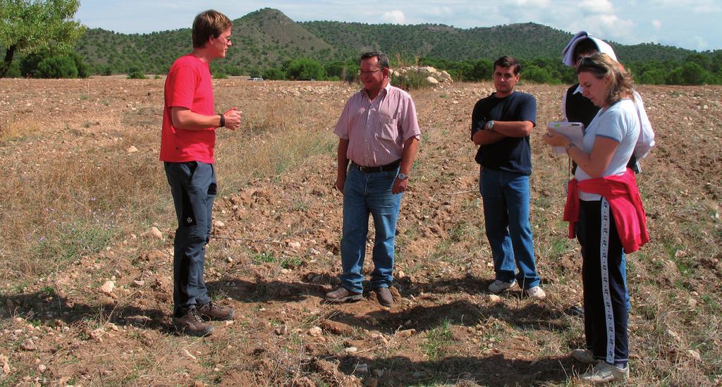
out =
[[69,50],[85,28],[72,17],[78,0],[0,0],[0,45],[6,48],[0,63],[0,78],[17,53],[35,53],[41,48]]

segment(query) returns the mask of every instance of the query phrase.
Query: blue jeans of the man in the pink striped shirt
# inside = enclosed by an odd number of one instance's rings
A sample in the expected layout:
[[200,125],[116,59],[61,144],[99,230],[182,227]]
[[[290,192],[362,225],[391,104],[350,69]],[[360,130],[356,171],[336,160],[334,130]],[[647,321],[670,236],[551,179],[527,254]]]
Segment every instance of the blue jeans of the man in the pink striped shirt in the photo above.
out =
[[341,285],[352,292],[363,291],[364,257],[368,216],[373,215],[376,238],[373,242],[371,287],[388,287],[393,282],[393,246],[396,219],[403,194],[391,194],[399,172],[362,173],[351,165],[344,183],[344,227],[341,238]]

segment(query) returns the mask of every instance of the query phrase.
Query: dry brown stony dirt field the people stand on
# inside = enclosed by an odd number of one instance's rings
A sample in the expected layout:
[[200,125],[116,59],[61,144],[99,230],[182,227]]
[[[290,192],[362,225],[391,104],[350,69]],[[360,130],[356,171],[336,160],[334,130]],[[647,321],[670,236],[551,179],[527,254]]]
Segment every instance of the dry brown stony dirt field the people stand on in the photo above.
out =
[[[578,243],[567,160],[541,141],[531,223],[548,299],[500,299],[484,236],[471,108],[489,84],[412,92],[423,136],[402,201],[396,303],[337,283],[342,196],[332,127],[355,85],[214,81],[219,194],[206,282],[236,318],[206,339],[170,326],[175,215],[157,161],[162,80],[0,79],[0,385],[578,385]],[[640,87],[657,146],[638,181],[652,241],[628,258],[632,386],[722,383],[722,87]],[[160,235],[149,230],[156,227]],[[370,241],[373,234],[370,235]],[[368,272],[370,257],[365,269]],[[112,284],[112,287],[110,287]]]

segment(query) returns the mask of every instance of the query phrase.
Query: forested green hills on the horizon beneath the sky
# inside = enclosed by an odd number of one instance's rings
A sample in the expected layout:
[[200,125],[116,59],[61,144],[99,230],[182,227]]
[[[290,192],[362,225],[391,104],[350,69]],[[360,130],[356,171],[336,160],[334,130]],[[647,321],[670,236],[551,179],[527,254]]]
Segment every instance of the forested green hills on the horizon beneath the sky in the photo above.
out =
[[[190,21],[189,21],[190,23]],[[572,37],[569,32],[523,23],[461,29],[446,25],[369,25],[347,22],[294,22],[277,9],[260,9],[233,21],[233,47],[222,64],[225,71],[248,74],[281,66],[295,58],[322,63],[348,61],[362,51],[380,50],[392,57],[438,58],[451,61],[560,58]],[[682,60],[695,51],[671,46],[611,43],[625,61]],[[77,51],[93,72],[126,72],[136,68],[163,74],[173,60],[191,51],[191,30],[121,34],[90,29]]]

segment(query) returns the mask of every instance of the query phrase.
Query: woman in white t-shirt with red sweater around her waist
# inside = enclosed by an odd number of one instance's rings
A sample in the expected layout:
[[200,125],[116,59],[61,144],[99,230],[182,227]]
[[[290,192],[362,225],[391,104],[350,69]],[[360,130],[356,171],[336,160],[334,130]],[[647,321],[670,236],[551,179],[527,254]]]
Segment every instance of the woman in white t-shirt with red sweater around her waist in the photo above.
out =
[[627,169],[640,136],[632,77],[605,53],[582,58],[577,75],[583,95],[601,109],[573,144],[552,129],[544,141],[565,147],[577,163],[565,220],[582,251],[586,349],[572,357],[594,364],[584,381],[622,381],[629,375],[627,288],[622,253],[649,240],[634,173]]

